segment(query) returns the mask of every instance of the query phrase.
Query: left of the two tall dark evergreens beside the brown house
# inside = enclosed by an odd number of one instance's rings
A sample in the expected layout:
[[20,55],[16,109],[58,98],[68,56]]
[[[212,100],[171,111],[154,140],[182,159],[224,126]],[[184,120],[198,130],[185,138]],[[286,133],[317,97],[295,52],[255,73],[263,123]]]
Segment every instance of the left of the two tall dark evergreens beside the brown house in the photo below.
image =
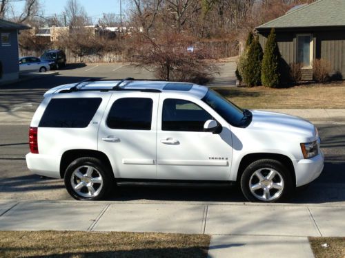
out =
[[249,47],[248,61],[246,67],[244,67],[243,79],[248,87],[261,84],[262,56],[262,47],[259,39],[255,38]]

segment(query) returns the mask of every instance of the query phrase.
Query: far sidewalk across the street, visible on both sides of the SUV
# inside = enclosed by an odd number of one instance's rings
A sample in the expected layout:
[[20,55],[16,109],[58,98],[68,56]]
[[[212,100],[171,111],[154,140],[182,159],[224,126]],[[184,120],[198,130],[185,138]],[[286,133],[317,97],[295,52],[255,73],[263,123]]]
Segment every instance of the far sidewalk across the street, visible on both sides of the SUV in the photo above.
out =
[[[262,109],[293,116],[299,116],[312,122],[342,120],[345,118],[345,109]],[[0,112],[0,124],[30,124],[34,113],[27,111]]]

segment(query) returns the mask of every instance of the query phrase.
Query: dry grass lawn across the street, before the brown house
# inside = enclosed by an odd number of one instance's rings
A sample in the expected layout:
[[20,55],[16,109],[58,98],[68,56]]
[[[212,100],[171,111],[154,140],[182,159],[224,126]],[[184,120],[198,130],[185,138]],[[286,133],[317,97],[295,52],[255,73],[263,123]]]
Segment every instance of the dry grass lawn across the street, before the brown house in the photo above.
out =
[[299,85],[286,89],[215,87],[239,107],[247,109],[345,108],[345,81]]

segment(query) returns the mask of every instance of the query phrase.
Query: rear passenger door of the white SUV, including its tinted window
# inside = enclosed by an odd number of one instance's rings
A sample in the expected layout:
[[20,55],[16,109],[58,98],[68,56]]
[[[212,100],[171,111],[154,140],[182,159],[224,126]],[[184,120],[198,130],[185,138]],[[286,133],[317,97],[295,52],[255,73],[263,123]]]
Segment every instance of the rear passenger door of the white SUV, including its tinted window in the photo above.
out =
[[99,128],[99,151],[115,178],[157,178],[156,131],[159,93],[117,92]]

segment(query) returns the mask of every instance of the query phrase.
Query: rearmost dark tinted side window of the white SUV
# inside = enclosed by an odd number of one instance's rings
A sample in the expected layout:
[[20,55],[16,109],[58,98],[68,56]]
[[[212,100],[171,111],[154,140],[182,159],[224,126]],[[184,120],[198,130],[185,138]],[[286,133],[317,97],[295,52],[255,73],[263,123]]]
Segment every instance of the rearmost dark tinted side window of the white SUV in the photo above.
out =
[[101,98],[53,98],[39,127],[87,127],[101,101]]

